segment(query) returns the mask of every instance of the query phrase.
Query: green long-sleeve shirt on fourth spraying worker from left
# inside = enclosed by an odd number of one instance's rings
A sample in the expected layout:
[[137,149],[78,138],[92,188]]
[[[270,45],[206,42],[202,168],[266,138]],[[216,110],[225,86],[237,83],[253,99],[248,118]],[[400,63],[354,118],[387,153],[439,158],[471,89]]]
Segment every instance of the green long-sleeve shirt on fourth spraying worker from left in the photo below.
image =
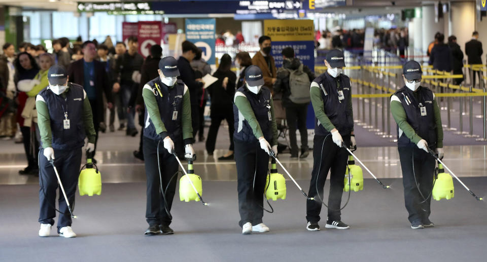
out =
[[[337,81],[337,87],[339,85],[339,82]],[[352,86],[352,83],[350,83],[350,86]],[[331,123],[330,119],[325,113],[325,104],[323,103],[323,97],[321,96],[321,92],[323,92],[316,82],[311,82],[311,87],[309,89],[309,95],[311,97],[311,104],[313,106],[313,110],[315,111],[315,117],[320,121],[320,124],[323,125],[323,127],[328,131],[331,132],[331,130],[335,129],[335,126]],[[349,98],[349,110],[352,114],[352,119],[354,118],[354,110],[352,107],[352,95],[350,95]],[[352,134],[353,134],[354,128],[352,127]]]

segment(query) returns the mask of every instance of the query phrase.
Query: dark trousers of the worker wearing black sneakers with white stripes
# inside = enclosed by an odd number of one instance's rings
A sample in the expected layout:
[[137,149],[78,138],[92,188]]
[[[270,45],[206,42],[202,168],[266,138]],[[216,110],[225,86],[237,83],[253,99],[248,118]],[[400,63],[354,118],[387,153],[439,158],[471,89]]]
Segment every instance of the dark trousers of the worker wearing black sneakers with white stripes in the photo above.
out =
[[[349,146],[350,136],[343,136],[342,138],[346,146]],[[308,196],[319,200],[317,194],[320,194],[321,199],[323,199],[323,186],[325,186],[328,171],[331,169],[330,193],[328,195],[329,220],[341,219],[341,212],[338,209],[341,205],[348,157],[349,153],[345,148],[340,148],[333,142],[331,134],[326,137],[315,135],[313,139],[313,171],[311,172]],[[325,200],[323,199],[323,201]],[[319,201],[306,200],[306,220],[316,223],[320,221],[321,206],[322,204]]]

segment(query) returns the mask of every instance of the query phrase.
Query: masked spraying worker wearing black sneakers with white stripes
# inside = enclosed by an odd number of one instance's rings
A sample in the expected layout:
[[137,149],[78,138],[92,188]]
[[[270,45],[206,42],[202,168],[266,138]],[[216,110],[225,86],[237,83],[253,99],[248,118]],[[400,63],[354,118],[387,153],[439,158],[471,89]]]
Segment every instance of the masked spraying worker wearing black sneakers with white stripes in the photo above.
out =
[[[315,110],[315,138],[313,139],[313,170],[306,202],[306,229],[319,231],[323,186],[331,169],[328,196],[327,229],[349,229],[341,221],[341,196],[348,153],[345,146],[355,147],[354,114],[350,78],[342,73],[345,62],[343,52],[333,49],[326,54],[327,71],[313,82],[309,90]],[[321,200],[321,201],[317,201]]]

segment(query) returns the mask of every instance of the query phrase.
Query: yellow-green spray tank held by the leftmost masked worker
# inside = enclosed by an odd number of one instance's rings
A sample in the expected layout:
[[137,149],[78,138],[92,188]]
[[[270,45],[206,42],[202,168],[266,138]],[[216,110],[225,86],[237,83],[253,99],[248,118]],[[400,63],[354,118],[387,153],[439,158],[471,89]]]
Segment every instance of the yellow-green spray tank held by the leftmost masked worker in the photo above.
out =
[[[78,178],[78,188],[80,196],[94,194],[101,194],[101,174],[96,164],[92,163],[93,154],[86,153],[86,164],[81,167],[80,176]],[[95,168],[93,168],[93,166]],[[85,168],[85,169],[83,169]]]

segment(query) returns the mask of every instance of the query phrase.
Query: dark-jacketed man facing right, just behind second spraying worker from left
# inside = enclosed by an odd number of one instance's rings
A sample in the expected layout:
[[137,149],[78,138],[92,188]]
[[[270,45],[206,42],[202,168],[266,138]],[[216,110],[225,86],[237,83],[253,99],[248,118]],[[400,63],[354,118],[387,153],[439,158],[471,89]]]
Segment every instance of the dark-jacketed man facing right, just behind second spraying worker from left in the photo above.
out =
[[191,61],[193,61],[196,54],[199,52],[198,48],[189,41],[184,41],[182,44],[183,54],[178,59],[178,68],[181,79],[189,89],[189,95],[191,100],[191,119],[193,124],[193,137],[196,136],[196,131],[199,129],[199,103],[198,98],[201,97],[202,87],[204,83],[200,78],[195,79],[194,70],[191,67]]

